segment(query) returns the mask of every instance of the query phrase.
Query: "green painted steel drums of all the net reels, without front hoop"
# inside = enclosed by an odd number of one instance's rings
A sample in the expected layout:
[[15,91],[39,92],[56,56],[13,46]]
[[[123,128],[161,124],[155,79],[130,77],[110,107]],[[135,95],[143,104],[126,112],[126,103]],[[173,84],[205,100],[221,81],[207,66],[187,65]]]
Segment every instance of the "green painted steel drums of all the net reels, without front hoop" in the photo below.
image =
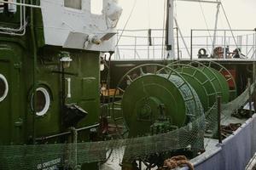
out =
[[[186,99],[188,95],[197,100],[204,111],[212,108],[218,95],[223,103],[230,100],[228,82],[219,71],[206,65],[175,64],[168,67],[169,70],[162,68],[155,74],[145,74],[143,67],[138,67],[141,75],[131,79],[131,85],[125,89],[121,110],[130,136],[150,133],[150,127],[161,116],[171,120],[173,126],[182,127],[188,123],[188,108],[195,110]],[[183,84],[187,86],[185,90]],[[160,106],[164,106],[164,111]]]

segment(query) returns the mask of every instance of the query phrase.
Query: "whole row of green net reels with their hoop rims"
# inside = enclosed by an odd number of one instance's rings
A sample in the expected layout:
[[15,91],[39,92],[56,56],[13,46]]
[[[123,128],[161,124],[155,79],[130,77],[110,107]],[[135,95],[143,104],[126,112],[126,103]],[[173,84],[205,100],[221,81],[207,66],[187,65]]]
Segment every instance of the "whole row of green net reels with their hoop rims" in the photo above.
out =
[[[228,72],[226,76],[224,71]],[[119,102],[113,102],[113,120],[116,126],[125,125],[119,133],[129,138],[167,133],[188,124],[192,126],[200,117],[207,120],[207,112],[216,104],[218,96],[222,103],[236,98],[236,86],[230,87],[229,82],[236,84],[230,71],[215,62],[139,65],[119,81],[116,89],[122,96]],[[205,122],[194,125],[201,129],[207,126]],[[200,143],[188,142],[195,154],[204,149],[203,133],[195,136],[198,138]],[[157,164],[158,159],[150,160]]]

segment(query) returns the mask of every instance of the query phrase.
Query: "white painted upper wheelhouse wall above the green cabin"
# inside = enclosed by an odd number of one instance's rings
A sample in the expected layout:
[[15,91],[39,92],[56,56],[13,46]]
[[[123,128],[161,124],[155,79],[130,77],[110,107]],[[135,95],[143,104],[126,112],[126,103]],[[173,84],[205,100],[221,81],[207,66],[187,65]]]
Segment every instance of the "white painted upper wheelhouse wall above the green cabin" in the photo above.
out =
[[[90,0],[82,0],[82,9],[64,7],[64,0],[42,0],[42,14],[44,21],[44,40],[47,45],[61,46],[65,48],[79,48],[93,51],[114,51],[115,37],[103,41],[100,44],[89,43],[89,35],[95,35],[98,39],[110,32],[116,32],[115,27],[108,27],[108,4],[114,3],[113,0],[103,0],[102,14],[91,14]],[[69,46],[68,38],[73,33],[84,35],[80,38],[80,44]]]

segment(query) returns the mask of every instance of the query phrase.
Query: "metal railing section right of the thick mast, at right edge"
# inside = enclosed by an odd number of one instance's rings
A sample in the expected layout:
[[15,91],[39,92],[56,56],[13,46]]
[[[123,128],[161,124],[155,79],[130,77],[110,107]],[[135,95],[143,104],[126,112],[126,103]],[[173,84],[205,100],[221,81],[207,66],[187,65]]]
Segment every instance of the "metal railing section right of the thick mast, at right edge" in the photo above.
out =
[[[209,36],[195,36],[195,32],[203,32]],[[194,29],[190,35],[190,59],[194,59],[200,48],[205,48],[207,54],[212,55],[214,48],[223,48],[223,59],[232,58],[233,52],[237,48],[241,50],[244,56],[241,58],[256,59],[256,30],[232,30],[236,33],[236,37],[231,36],[230,30],[217,30],[218,36],[215,37],[215,44],[212,44],[213,36],[211,32],[214,30]],[[241,33],[240,33],[241,32]],[[197,38],[196,38],[197,37]],[[198,40],[198,38],[201,40]],[[197,49],[197,50],[195,50]]]

